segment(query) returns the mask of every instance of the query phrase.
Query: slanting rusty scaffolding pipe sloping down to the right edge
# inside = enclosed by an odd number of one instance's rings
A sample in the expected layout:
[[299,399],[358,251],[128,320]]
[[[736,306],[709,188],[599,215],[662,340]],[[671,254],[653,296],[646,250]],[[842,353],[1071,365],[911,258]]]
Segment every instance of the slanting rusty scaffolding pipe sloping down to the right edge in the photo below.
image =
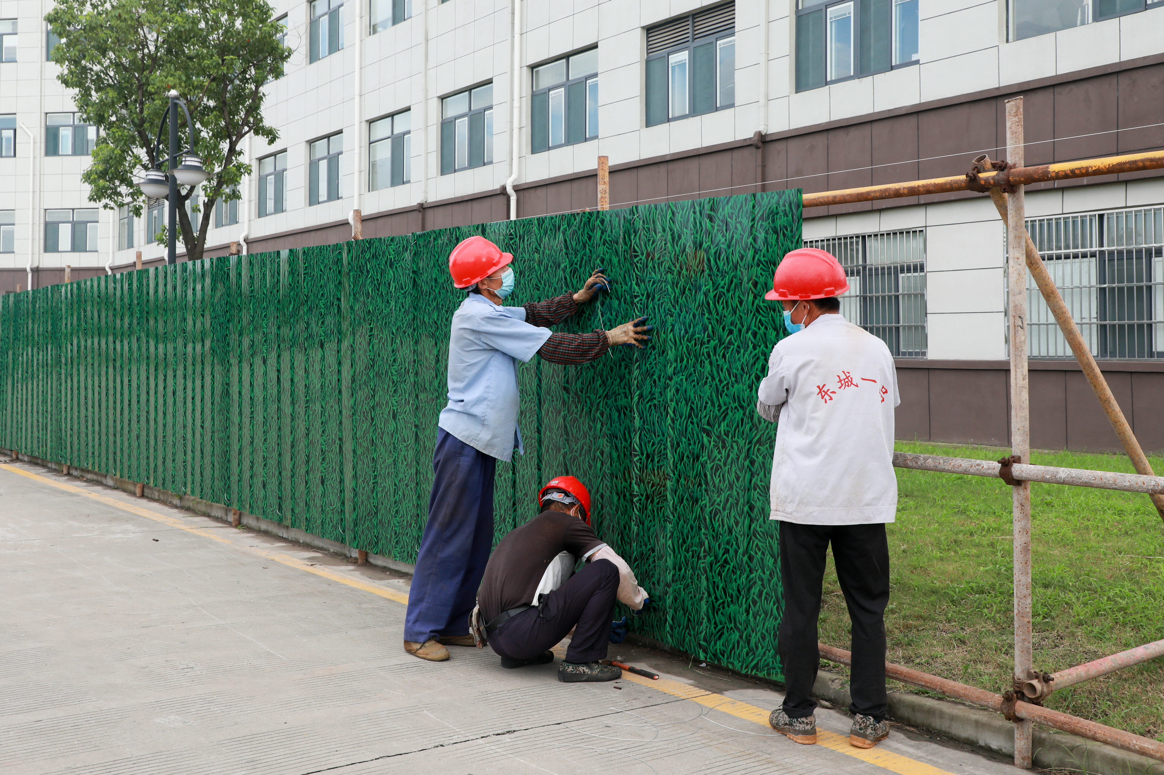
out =
[[[984,166],[992,164],[988,156],[979,156],[974,162]],[[991,189],[991,199],[994,201],[1002,222],[1009,229],[1007,194],[998,189]],[[1063,337],[1071,347],[1071,353],[1076,356],[1076,361],[1079,362],[1079,368],[1083,369],[1084,376],[1087,377],[1087,382],[1091,384],[1099,405],[1103,408],[1103,413],[1107,414],[1108,422],[1112,424],[1112,429],[1115,431],[1115,435],[1120,439],[1120,443],[1123,445],[1123,450],[1128,454],[1136,471],[1145,476],[1155,476],[1156,472],[1152,470],[1152,464],[1148,462],[1148,456],[1144,455],[1140,441],[1136,440],[1136,434],[1131,432],[1131,425],[1123,415],[1123,410],[1120,408],[1120,404],[1115,400],[1115,394],[1112,393],[1107,379],[1103,378],[1103,372],[1100,371],[1099,364],[1095,362],[1095,356],[1092,355],[1091,348],[1087,346],[1086,340],[1084,340],[1083,332],[1079,330],[1079,326],[1076,325],[1074,319],[1071,317],[1071,310],[1063,300],[1063,296],[1059,293],[1059,289],[1056,287],[1051,273],[1046,271],[1046,265],[1043,263],[1042,256],[1038,255],[1038,248],[1035,247],[1030,234],[1027,234],[1025,225],[1023,233],[1027,242],[1027,269],[1030,270],[1031,277],[1035,278],[1035,284],[1038,285],[1039,293],[1043,294],[1046,306],[1051,310],[1051,314],[1055,315],[1055,321],[1059,325]],[[1143,490],[1143,492],[1151,491]],[[1164,520],[1164,493],[1155,491],[1155,495],[1152,495],[1152,505],[1156,506],[1156,513],[1159,518]]]

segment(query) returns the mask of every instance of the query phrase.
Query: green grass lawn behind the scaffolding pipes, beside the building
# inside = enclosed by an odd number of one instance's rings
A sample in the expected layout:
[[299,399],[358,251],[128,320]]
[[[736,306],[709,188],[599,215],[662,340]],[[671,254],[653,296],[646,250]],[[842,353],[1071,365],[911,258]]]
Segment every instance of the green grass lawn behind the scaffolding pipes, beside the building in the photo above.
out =
[[[982,460],[1006,452],[921,442],[897,442],[897,450]],[[1134,472],[1119,455],[1032,457]],[[1164,471],[1164,460],[1151,463]],[[897,469],[897,521],[888,526],[888,660],[1005,691],[1014,664],[1010,489],[1000,479],[907,469]],[[1035,483],[1031,524],[1036,669],[1053,673],[1164,638],[1164,524],[1147,495]],[[849,648],[831,562],[821,640]],[[1164,741],[1164,659],[1056,691],[1045,704]]]

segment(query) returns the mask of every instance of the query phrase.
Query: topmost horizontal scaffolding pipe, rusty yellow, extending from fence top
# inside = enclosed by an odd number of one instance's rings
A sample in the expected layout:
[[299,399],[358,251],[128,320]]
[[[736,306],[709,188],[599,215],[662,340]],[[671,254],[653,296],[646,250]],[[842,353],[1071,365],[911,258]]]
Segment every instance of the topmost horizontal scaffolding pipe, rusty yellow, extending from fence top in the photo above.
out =
[[[1014,164],[1014,158],[1008,159]],[[1119,175],[1121,172],[1142,172],[1164,168],[1164,150],[1147,154],[1128,154],[1124,156],[1106,156],[1086,158],[1078,162],[1060,162],[1058,164],[1037,164],[1034,166],[1015,165],[1008,171],[984,172],[979,182],[985,186],[1029,185],[1031,183],[1049,183],[1071,178],[1090,178],[1096,175]],[[973,191],[971,180],[965,175],[949,178],[930,178],[929,180],[911,180],[909,183],[890,183],[883,186],[864,186],[861,189],[843,189],[840,191],[822,191],[803,194],[804,207],[824,207],[825,205],[849,205],[854,201],[874,201],[878,199],[899,199],[901,197],[921,197],[935,193],[953,193]]]

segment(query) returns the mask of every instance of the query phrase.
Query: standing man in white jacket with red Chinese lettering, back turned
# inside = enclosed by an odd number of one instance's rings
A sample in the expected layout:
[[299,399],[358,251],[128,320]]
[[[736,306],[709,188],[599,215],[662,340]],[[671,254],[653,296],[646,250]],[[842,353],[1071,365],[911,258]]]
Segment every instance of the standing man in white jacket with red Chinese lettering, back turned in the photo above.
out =
[[787,694],[769,723],[796,742],[816,742],[811,691],[831,545],[852,621],[849,741],[871,748],[889,734],[885,525],[897,510],[893,421],[900,399],[889,348],[840,315],[837,297],[847,290],[836,258],[802,248],[783,257],[765,297],[783,304],[790,333],[772,350],[757,404],[761,417],[779,421],[769,519],[780,520],[785,610],[778,641]]

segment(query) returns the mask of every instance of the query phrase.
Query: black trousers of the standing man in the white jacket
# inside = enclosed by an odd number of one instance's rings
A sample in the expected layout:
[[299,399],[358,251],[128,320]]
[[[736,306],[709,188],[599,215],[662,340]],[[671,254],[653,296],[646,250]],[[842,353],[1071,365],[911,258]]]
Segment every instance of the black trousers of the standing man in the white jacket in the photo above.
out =
[[824,554],[832,543],[837,581],[845,595],[853,633],[850,713],[885,719],[885,606],[889,603],[889,546],[885,525],[796,525],[780,522],[780,661],[785,668],[785,712],[812,716],[812,684],[821,661],[817,619]]

